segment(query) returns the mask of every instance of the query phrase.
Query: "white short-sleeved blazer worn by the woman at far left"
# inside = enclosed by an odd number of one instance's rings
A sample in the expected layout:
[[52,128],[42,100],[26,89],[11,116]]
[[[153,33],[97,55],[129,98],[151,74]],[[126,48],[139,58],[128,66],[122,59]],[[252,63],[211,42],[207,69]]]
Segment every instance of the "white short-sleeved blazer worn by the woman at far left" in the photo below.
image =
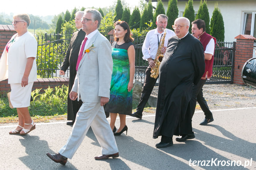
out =
[[[16,35],[17,34],[13,35],[10,41]],[[27,58],[36,58],[36,53],[37,42],[34,36],[29,32],[26,32],[12,43],[9,47],[8,53],[6,48],[4,48],[0,59],[0,81],[8,78],[9,84],[21,83],[27,64]],[[34,60],[32,69],[28,76],[28,82],[36,81],[36,74],[36,60]]]

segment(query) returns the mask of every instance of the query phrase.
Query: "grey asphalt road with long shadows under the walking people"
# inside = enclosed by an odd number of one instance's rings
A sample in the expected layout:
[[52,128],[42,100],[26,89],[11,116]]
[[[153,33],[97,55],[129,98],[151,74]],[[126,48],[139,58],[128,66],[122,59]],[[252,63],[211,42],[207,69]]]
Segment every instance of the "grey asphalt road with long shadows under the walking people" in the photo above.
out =
[[66,121],[37,123],[36,129],[24,136],[9,135],[8,132],[16,126],[5,124],[0,126],[0,169],[256,169],[256,107],[212,112],[214,122],[207,126],[199,125],[204,118],[201,111],[194,114],[195,139],[179,143],[174,136],[174,145],[162,149],[155,148],[160,137],[152,138],[155,115],[143,116],[141,120],[127,116],[128,134],[115,137],[120,156],[104,161],[94,159],[101,155],[101,148],[89,129],[66,166],[46,156],[47,152],[58,152],[66,143],[72,130]]

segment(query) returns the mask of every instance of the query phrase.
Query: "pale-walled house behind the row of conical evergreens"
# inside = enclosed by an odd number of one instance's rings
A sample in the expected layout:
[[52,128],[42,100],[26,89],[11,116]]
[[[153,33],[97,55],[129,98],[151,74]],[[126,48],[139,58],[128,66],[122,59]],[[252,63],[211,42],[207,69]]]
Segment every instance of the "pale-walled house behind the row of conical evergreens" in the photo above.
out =
[[[168,0],[162,2],[166,12]],[[179,17],[182,17],[187,2],[188,0],[177,0]],[[256,38],[256,0],[207,0],[210,19],[216,2],[224,20],[225,41],[236,41],[235,37],[239,34],[252,35]],[[193,0],[195,13],[198,12],[199,5],[200,0]]]

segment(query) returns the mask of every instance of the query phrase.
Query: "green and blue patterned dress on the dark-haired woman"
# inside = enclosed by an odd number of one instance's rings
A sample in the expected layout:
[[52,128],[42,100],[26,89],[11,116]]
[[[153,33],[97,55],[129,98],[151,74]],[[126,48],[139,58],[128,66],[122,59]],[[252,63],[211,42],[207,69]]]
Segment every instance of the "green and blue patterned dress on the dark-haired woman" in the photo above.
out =
[[112,45],[113,72],[110,86],[109,102],[105,106],[105,112],[131,115],[132,114],[132,90],[128,92],[130,80],[130,65],[127,50],[132,42]]

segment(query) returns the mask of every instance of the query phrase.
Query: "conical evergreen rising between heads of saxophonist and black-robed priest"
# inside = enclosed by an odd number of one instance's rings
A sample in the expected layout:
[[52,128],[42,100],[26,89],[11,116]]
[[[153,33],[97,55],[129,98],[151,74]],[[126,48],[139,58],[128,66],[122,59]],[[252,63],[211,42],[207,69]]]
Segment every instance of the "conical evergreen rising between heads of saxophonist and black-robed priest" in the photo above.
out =
[[179,15],[177,0],[169,0],[166,15],[168,17],[168,25],[166,28],[173,30],[172,25],[174,25],[174,21]]

